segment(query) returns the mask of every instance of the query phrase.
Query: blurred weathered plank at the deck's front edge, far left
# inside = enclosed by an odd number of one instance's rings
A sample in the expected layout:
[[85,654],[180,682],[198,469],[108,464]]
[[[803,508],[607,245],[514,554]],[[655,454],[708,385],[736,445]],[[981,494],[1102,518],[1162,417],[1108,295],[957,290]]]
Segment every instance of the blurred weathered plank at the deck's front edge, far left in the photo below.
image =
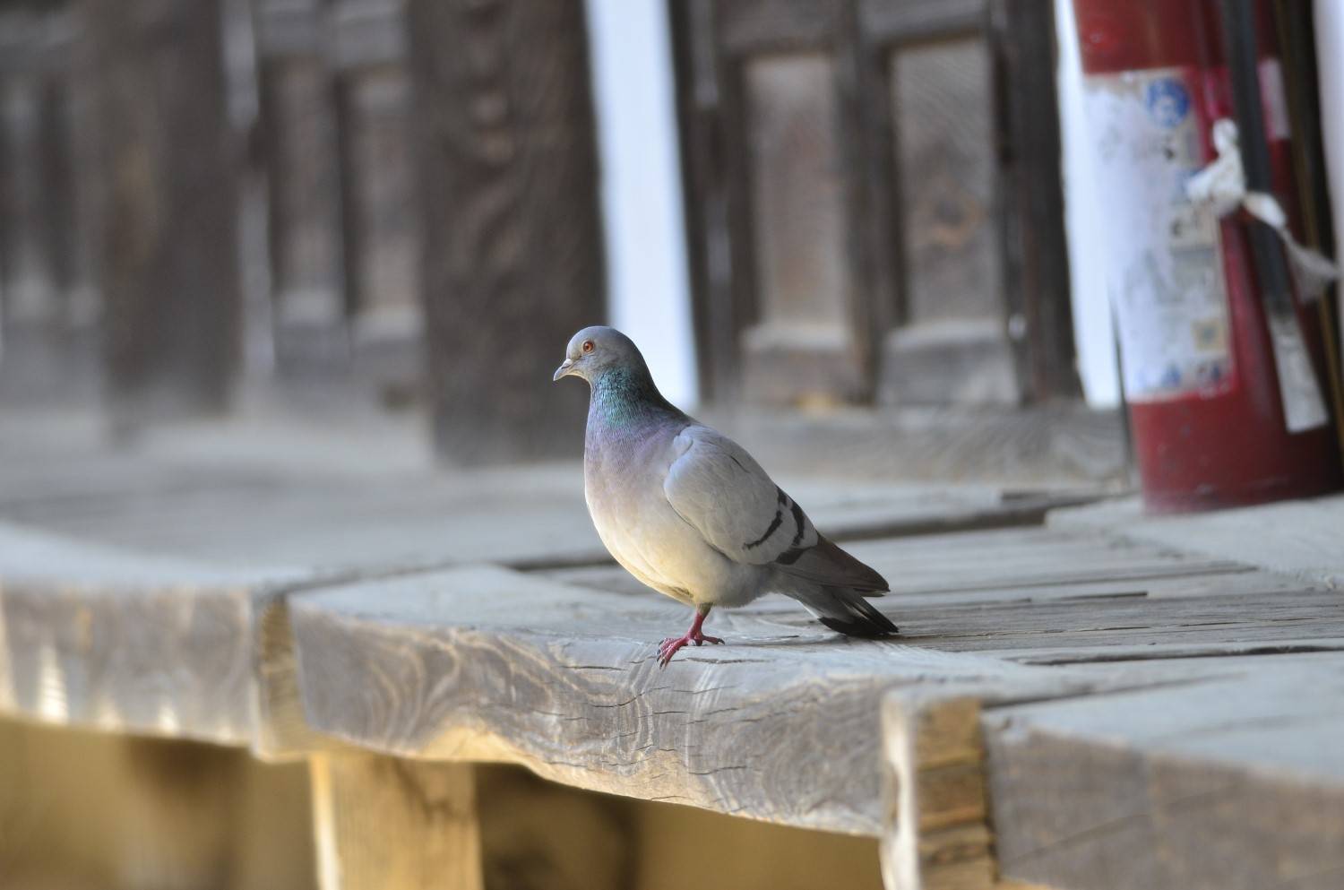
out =
[[265,756],[320,747],[292,722],[267,722],[292,700],[280,678],[293,657],[266,606],[306,579],[0,526],[0,710]]

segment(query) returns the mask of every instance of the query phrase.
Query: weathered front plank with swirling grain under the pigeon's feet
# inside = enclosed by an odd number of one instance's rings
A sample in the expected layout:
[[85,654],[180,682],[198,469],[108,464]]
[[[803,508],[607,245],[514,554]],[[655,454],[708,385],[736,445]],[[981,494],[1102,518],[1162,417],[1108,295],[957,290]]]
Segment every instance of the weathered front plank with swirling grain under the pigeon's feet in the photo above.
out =
[[290,610],[320,731],[831,831],[876,834],[884,692],[1070,688],[1064,671],[859,644],[750,610],[715,613],[731,645],[659,670],[655,641],[685,617],[671,601],[489,567],[304,593]]

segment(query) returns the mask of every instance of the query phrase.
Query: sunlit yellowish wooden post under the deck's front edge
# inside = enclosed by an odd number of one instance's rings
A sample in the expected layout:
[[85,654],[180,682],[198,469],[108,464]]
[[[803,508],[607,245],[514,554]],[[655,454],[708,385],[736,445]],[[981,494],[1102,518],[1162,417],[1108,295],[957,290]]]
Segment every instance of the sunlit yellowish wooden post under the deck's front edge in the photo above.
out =
[[314,754],[321,890],[481,890],[472,768]]

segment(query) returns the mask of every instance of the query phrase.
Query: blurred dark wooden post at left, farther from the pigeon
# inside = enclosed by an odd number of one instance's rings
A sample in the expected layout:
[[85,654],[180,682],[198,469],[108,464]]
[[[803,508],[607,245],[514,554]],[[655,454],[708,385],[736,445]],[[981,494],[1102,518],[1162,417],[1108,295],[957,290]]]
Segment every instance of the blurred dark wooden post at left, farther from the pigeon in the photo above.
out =
[[238,363],[237,151],[220,0],[90,0],[118,419],[219,410]]

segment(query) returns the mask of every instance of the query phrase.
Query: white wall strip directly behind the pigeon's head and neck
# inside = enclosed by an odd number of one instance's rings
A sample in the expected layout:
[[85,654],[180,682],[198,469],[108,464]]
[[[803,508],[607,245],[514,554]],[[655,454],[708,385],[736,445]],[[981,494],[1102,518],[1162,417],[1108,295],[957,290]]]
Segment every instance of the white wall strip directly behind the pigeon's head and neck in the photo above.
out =
[[679,406],[696,401],[672,32],[663,0],[587,0],[610,324]]

